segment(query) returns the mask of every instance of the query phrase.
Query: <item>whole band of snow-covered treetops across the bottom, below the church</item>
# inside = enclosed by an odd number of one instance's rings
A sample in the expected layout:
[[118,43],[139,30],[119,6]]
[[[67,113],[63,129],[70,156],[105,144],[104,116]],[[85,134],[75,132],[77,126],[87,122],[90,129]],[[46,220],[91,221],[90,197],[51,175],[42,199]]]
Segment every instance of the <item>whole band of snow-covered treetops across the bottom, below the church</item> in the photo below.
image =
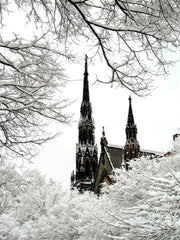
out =
[[117,170],[116,183],[93,193],[64,192],[37,171],[0,166],[0,239],[178,240],[180,139],[168,157]]

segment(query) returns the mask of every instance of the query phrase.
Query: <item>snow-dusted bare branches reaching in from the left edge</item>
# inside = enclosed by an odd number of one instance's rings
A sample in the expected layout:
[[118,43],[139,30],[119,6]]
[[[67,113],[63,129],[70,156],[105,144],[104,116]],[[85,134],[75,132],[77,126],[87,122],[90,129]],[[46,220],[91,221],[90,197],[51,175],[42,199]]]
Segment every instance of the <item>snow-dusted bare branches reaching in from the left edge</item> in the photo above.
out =
[[[0,3],[0,151],[8,158],[30,159],[38,145],[60,132],[48,134],[46,126],[69,119],[61,91],[66,83],[62,61],[70,55],[48,29],[27,23],[26,8],[16,4]],[[13,24],[19,16],[22,29]]]

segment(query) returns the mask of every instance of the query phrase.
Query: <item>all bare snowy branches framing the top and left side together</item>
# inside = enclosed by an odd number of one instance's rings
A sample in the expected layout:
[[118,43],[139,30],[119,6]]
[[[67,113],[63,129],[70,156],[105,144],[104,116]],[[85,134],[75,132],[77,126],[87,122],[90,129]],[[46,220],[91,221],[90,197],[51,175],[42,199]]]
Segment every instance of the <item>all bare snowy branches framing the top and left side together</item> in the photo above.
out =
[[45,134],[45,125],[67,122],[57,91],[82,46],[107,65],[106,82],[145,95],[172,63],[165,52],[180,46],[179,23],[179,0],[0,1],[1,155],[29,159],[56,135]]

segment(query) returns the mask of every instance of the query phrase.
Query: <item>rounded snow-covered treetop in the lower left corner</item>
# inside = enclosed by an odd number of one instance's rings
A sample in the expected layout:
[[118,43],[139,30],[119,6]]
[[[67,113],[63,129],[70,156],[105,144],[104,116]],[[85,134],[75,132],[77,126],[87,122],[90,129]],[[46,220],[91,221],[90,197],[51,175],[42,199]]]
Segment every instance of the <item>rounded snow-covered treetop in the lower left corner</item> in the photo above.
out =
[[60,184],[12,164],[1,163],[0,173],[0,239],[77,239],[76,214]]

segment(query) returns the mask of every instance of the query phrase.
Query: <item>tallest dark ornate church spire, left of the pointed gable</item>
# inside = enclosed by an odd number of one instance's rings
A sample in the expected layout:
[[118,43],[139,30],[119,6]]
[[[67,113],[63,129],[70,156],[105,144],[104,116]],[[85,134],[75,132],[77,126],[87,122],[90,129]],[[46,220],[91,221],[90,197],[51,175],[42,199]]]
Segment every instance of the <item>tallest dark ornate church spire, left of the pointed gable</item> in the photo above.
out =
[[98,164],[97,145],[95,144],[94,121],[89,97],[88,63],[85,57],[83,98],[80,108],[79,137],[76,144],[76,172],[71,175],[71,188],[93,191]]

